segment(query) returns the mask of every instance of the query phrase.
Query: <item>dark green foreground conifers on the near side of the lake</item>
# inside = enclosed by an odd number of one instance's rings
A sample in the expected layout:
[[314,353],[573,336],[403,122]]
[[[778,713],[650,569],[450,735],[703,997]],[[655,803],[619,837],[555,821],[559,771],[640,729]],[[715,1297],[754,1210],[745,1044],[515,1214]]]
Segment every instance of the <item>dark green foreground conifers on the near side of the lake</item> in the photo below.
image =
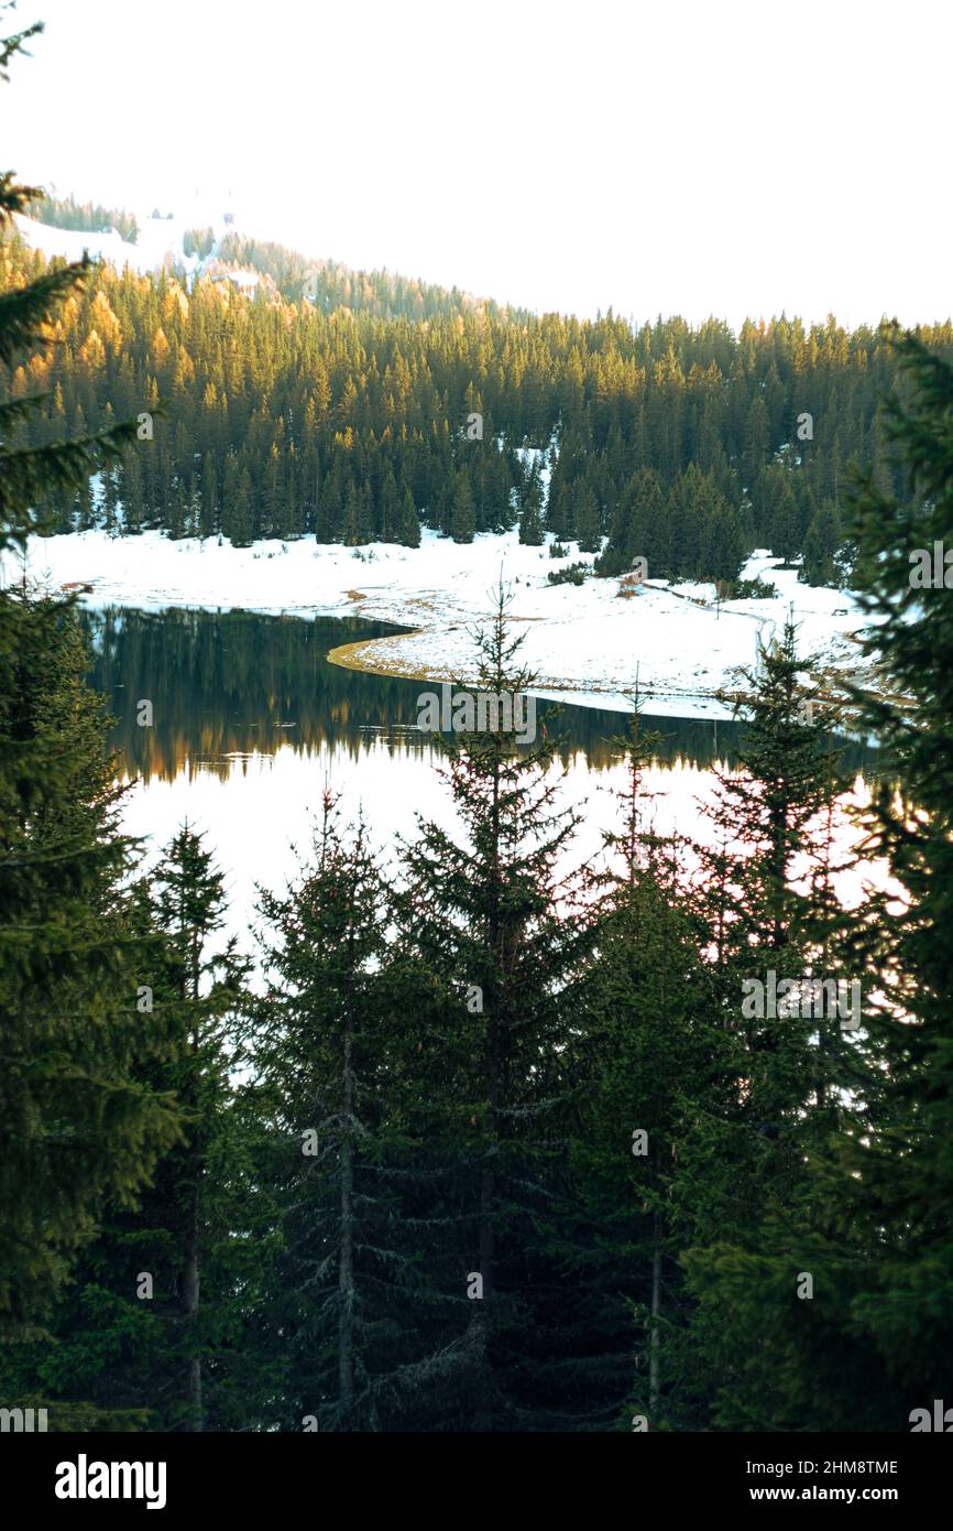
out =
[[[919,367],[948,410],[953,372]],[[930,805],[886,782],[858,825],[916,890],[903,917],[835,897],[847,781],[789,629],[713,841],[652,831],[638,713],[587,862],[546,730],[451,735],[459,830],[424,818],[385,863],[326,795],[262,890],[254,983],[202,837],[144,876],[119,833],[69,600],[3,592],[0,619],[9,1402],[50,1428],[893,1431],[942,1396],[945,649],[915,675],[898,620],[930,726],[877,703]],[[529,681],[505,609],[480,678]],[[753,1015],[768,972],[855,975],[861,1024]]]

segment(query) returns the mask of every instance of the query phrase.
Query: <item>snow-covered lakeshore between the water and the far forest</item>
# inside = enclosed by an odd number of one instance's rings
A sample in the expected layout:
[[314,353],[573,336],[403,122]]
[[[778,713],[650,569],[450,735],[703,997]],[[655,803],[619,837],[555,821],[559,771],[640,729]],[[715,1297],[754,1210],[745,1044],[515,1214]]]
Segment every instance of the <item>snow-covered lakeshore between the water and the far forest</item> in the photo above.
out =
[[[652,712],[720,718],[730,706],[717,690],[736,690],[739,668],[756,660],[759,632],[771,638],[791,606],[799,649],[823,668],[857,674],[851,634],[863,626],[846,591],[814,589],[756,553],[743,570],[776,585],[769,600],[714,603],[710,585],[667,588],[649,582],[630,599],[616,579],[549,585],[551,570],[592,562],[569,545],[568,559],[548,547],[520,547],[516,531],[457,545],[425,531],[419,548],[373,544],[352,550],[300,542],[233,548],[217,539],[173,542],[161,533],[110,537],[104,531],[34,537],[28,577],[58,589],[84,585],[87,605],[246,608],[263,612],[361,615],[415,631],[346,645],[338,663],[389,675],[473,680],[473,629],[485,620],[500,580],[511,589],[509,615],[525,634],[520,660],[537,675],[540,695],[626,709],[635,687]],[[0,563],[5,582],[20,580],[18,556]]]

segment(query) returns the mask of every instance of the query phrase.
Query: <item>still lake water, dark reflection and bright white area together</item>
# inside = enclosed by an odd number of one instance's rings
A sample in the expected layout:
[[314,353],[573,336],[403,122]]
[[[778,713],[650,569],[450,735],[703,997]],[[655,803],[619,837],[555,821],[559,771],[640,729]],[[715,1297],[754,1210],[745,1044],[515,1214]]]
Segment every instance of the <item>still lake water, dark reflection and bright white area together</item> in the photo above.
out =
[[[427,683],[346,671],[326,657],[396,628],[179,608],[89,611],[84,623],[92,680],[110,700],[130,782],[125,828],[150,859],[182,822],[205,831],[226,873],[229,926],[248,949],[255,885],[283,888],[294,876],[326,787],[344,821],[363,816],[385,860],[413,836],[418,814],[454,827],[439,746],[416,726]],[[142,700],[153,704],[151,727],[136,723]],[[574,847],[583,860],[616,827],[623,770],[612,741],[626,718],[564,706],[546,727],[558,739],[561,798],[584,816]],[[704,834],[711,767],[734,761],[743,726],[642,713],[641,727],[659,735],[646,782],[653,827]],[[846,746],[844,759],[860,772],[869,752]]]

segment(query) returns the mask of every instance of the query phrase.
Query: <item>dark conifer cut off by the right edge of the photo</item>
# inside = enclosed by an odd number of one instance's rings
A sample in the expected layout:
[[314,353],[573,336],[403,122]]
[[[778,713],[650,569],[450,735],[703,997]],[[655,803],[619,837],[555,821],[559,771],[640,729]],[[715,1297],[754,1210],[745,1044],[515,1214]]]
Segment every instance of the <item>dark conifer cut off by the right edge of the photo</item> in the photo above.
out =
[[[883,857],[898,888],[872,893],[860,919],[840,916],[840,939],[875,997],[866,1033],[877,1070],[863,1130],[832,1147],[818,1176],[823,1337],[843,1361],[829,1381],[826,1428],[846,1418],[863,1428],[909,1430],[913,1410],[948,1396],[953,1343],[953,968],[945,939],[953,626],[948,591],[913,577],[924,551],[932,557],[953,547],[953,367],[912,334],[895,337],[895,346],[910,389],[906,400],[887,400],[886,432],[909,499],[898,504],[872,475],[855,475],[855,577],[866,612],[878,619],[866,651],[880,669],[877,690],[852,686],[849,697],[884,752],[881,782],[861,814],[863,853]],[[812,1360],[805,1347],[789,1376],[800,1398]]]

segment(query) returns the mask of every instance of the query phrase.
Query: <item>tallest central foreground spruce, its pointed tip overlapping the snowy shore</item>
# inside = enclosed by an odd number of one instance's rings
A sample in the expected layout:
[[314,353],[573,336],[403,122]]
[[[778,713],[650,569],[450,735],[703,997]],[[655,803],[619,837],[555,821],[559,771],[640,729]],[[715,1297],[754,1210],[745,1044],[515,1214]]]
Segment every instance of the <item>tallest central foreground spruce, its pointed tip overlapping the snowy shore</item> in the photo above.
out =
[[[500,591],[479,640],[482,692],[525,694],[531,677],[514,663],[519,645]],[[419,824],[396,909],[444,997],[421,1087],[434,1102],[437,1167],[451,1171],[441,1197],[442,1289],[470,1307],[453,1418],[460,1428],[526,1428],[545,1407],[540,1369],[554,1344],[532,1228],[558,1159],[560,1043],[589,928],[581,914],[557,912],[563,899],[572,905],[555,863],[577,818],[555,804],[545,727],[517,750],[502,709],[485,729],[479,715],[459,721],[444,747],[463,836]]]

